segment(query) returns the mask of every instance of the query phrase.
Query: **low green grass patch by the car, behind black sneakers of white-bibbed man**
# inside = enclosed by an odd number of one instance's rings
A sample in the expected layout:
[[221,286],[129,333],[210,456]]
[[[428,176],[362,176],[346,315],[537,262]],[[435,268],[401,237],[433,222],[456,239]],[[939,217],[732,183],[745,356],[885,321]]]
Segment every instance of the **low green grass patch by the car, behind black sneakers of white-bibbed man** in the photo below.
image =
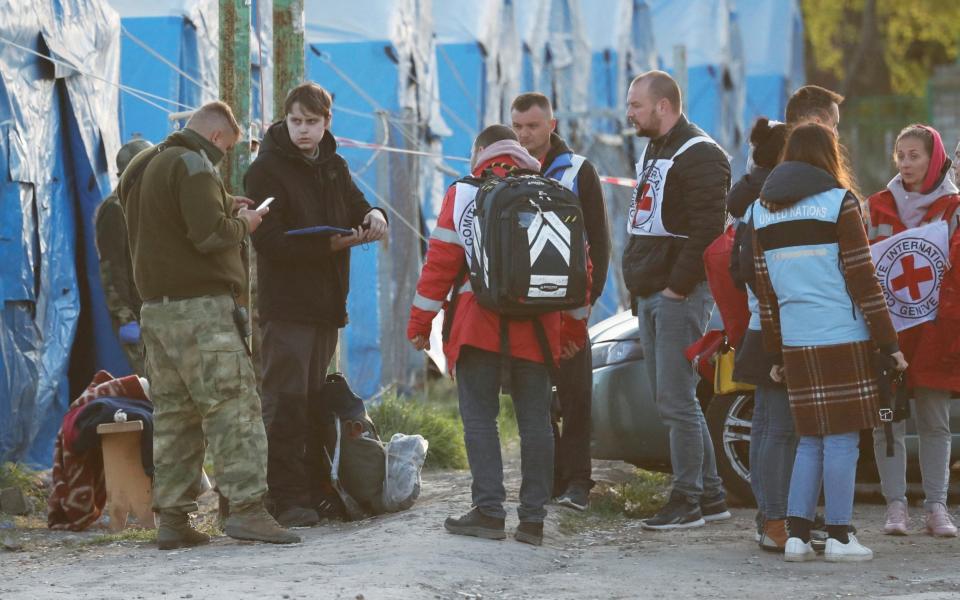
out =
[[585,512],[564,510],[560,529],[576,533],[620,519],[641,519],[653,515],[670,491],[670,475],[634,469],[633,476],[621,483],[600,482],[590,493],[590,508]]

